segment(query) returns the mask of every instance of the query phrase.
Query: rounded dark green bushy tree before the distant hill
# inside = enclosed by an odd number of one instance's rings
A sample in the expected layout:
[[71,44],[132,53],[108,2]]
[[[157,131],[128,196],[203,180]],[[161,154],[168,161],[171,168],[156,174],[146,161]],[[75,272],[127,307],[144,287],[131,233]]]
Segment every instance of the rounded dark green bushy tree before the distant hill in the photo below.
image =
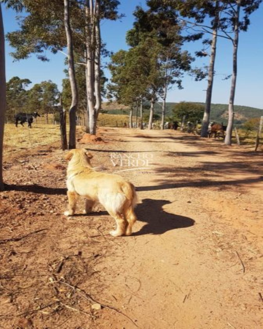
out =
[[180,102],[173,108],[174,118],[181,120],[185,115],[186,121],[196,122],[203,118],[204,106],[190,102]]

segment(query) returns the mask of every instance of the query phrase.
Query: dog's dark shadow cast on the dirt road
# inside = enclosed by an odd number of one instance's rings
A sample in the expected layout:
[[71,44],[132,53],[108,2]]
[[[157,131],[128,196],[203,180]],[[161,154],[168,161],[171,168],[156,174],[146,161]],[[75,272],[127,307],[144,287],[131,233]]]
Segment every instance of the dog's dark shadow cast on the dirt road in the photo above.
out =
[[146,222],[140,231],[132,236],[145,234],[163,234],[170,230],[193,226],[192,218],[174,215],[163,210],[163,206],[171,203],[168,200],[143,199],[135,208],[138,221]]

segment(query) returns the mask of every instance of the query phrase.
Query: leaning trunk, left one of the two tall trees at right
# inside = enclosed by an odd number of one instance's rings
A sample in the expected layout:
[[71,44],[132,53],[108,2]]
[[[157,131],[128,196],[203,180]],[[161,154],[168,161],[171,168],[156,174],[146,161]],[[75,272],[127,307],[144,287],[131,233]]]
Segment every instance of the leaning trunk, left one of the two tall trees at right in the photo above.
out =
[[207,89],[206,89],[206,99],[205,99],[205,108],[203,114],[203,122],[201,128],[201,137],[208,136],[208,125],[210,119],[210,109],[211,109],[211,99],[212,99],[212,89],[213,89],[213,81],[214,81],[214,67],[215,67],[215,58],[216,58],[216,41],[217,41],[217,28],[218,28],[218,19],[219,19],[219,1],[216,2],[215,10],[216,10],[216,21],[215,28],[213,29],[213,38],[211,44],[211,54],[210,54],[210,63],[208,70],[208,79],[207,79]]

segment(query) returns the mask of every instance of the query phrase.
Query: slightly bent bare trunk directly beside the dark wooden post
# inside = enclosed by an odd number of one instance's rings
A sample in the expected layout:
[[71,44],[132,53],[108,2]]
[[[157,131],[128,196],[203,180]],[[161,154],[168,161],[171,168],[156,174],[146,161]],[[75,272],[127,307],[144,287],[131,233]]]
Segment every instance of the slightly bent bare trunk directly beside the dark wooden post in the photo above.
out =
[[69,0],[64,0],[64,24],[67,38],[68,74],[71,87],[72,101],[69,110],[69,143],[68,148],[76,148],[76,111],[78,106],[78,88],[74,67],[72,31],[69,18]]

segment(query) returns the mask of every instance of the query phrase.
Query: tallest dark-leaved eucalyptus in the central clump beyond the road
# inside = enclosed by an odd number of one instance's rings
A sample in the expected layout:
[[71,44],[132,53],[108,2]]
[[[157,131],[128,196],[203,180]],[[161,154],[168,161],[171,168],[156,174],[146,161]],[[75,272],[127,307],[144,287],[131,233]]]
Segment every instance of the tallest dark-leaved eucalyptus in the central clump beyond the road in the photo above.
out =
[[[149,38],[155,39],[159,45],[155,55],[155,75],[158,76],[158,93],[156,94],[162,98],[161,128],[164,129],[167,91],[174,84],[182,88],[181,78],[185,71],[191,71],[191,62],[194,58],[187,51],[182,51],[186,39],[181,35],[176,10],[171,5],[166,6],[166,2],[163,1],[147,1],[146,3],[150,7],[148,10],[136,8],[133,28],[128,31],[126,40],[132,47]],[[197,37],[188,39],[191,38]],[[151,117],[152,115],[150,115],[150,120]],[[149,127],[151,127],[150,124]]]

